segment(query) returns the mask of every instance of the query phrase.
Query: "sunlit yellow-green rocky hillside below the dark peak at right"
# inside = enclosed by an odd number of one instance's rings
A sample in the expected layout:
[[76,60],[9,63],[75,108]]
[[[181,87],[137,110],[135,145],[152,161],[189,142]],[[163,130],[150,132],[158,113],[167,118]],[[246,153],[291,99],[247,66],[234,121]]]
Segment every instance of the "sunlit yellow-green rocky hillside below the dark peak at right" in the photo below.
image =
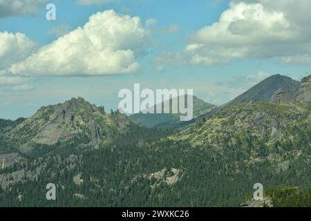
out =
[[220,111],[172,138],[187,140],[194,146],[209,144],[216,148],[222,142],[236,143],[237,136],[245,138],[252,135],[271,143],[294,135],[290,128],[306,125],[311,125],[310,108],[300,103],[276,105],[248,102]]

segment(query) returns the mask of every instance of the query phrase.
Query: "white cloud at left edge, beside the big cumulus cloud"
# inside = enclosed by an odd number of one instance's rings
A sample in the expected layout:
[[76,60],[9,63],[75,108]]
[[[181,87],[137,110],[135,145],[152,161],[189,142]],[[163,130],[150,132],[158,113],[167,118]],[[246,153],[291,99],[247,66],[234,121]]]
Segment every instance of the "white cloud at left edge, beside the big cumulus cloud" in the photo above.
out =
[[[0,68],[26,59],[35,50],[35,43],[21,33],[0,32]],[[0,71],[0,75],[1,75]]]

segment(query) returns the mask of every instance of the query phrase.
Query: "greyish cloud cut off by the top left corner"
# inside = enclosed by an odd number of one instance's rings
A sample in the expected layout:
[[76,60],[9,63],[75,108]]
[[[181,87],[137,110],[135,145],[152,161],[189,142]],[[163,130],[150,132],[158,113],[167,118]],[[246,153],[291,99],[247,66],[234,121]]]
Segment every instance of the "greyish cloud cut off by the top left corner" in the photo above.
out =
[[0,18],[32,14],[44,2],[45,0],[0,0]]

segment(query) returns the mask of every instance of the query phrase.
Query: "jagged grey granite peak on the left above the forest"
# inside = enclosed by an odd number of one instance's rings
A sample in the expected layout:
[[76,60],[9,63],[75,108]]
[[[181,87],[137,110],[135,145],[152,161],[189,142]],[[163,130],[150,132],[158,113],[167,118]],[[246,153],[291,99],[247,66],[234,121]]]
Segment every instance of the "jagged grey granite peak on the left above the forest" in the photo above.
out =
[[125,133],[130,125],[138,126],[126,115],[107,114],[103,107],[79,97],[40,108],[35,115],[6,131],[6,137],[15,140],[21,151],[30,151],[35,144],[55,145],[73,139],[96,148]]

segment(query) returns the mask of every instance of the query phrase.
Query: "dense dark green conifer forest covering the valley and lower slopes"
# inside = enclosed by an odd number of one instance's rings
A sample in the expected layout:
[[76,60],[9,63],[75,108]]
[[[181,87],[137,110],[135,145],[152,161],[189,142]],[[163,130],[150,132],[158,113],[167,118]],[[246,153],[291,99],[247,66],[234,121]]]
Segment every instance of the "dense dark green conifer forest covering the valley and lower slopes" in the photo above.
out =
[[[23,155],[28,159],[25,164],[1,173],[19,169],[34,171],[39,166],[35,160],[39,158],[44,159],[41,164],[46,164],[45,169],[37,180],[27,178],[12,185],[12,191],[2,190],[0,206],[238,206],[252,194],[256,182],[263,183],[265,188],[281,184],[310,188],[310,155],[305,152],[296,159],[289,156],[290,169],[276,173],[274,162],[245,162],[247,148],[249,154],[254,155],[254,146],[263,147],[263,140],[241,136],[236,146],[227,146],[220,153],[210,146],[192,148],[187,142],[161,138],[172,132],[135,128],[97,150],[79,147],[78,144],[87,143],[83,137],[67,144],[37,146],[36,151]],[[300,142],[301,149],[309,145],[307,141]],[[290,144],[278,145],[283,148]],[[70,155],[78,158],[72,168],[68,163]],[[171,186],[164,182],[153,186],[156,180],[149,180],[146,175],[164,168],[180,169],[178,182]],[[80,186],[73,182],[78,173],[82,173],[84,180]],[[46,200],[45,187],[50,182],[57,185],[55,202]],[[75,198],[75,193],[86,199]],[[279,194],[276,192],[275,198],[279,198]]]

